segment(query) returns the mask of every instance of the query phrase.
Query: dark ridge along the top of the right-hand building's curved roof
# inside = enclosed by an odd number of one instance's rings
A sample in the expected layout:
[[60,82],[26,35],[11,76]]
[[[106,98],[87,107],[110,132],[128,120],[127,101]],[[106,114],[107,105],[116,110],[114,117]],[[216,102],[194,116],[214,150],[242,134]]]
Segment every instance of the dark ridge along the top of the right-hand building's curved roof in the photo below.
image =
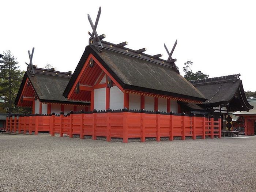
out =
[[214,78],[196,79],[196,80],[190,80],[189,83],[203,84],[203,83],[211,83],[211,82],[224,82],[227,80],[239,79],[239,76],[240,74],[233,74],[233,75],[225,75],[225,76],[219,76]]

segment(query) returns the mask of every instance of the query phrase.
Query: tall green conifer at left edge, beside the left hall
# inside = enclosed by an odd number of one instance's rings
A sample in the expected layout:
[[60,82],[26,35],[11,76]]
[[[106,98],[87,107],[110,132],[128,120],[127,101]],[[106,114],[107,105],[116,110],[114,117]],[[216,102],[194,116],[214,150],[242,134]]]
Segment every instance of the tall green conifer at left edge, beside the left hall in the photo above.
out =
[[3,97],[5,103],[1,103],[3,112],[26,113],[30,108],[20,108],[15,106],[14,101],[22,81],[24,71],[20,71],[17,58],[11,51],[4,52],[0,60],[0,97]]

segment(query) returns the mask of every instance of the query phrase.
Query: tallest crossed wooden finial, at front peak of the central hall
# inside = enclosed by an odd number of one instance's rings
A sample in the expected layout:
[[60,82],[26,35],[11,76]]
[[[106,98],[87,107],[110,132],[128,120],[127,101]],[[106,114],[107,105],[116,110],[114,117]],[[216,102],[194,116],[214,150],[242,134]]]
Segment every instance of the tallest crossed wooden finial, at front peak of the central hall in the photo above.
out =
[[93,33],[88,31],[88,34],[91,36],[89,38],[89,45],[93,45],[99,52],[102,52],[103,45],[101,43],[101,39],[105,38],[106,35],[98,35],[96,29],[99,22],[99,16],[101,15],[101,7],[99,7],[98,15],[95,21],[95,25],[93,24],[90,15],[88,14],[88,20],[90,22],[91,28],[93,29]]

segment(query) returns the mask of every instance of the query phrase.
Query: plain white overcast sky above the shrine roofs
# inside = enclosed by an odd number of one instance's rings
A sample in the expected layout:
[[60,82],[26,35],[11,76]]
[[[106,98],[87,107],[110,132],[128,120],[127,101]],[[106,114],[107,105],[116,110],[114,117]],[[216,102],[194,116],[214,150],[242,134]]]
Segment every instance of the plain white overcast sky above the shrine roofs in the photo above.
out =
[[59,71],[75,70],[92,33],[87,14],[105,41],[127,41],[131,49],[167,54],[182,67],[193,61],[193,72],[210,77],[240,73],[244,90],[256,91],[255,1],[27,1],[0,0],[0,53],[11,50],[20,68],[29,63],[27,50],[35,47],[33,64],[47,63]]

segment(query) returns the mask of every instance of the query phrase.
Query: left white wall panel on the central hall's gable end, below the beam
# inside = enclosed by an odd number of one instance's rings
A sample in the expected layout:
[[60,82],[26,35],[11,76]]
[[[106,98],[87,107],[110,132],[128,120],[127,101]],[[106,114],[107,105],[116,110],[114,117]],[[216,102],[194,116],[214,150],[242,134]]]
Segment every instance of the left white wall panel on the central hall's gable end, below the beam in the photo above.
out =
[[106,88],[105,87],[100,89],[94,89],[94,109],[96,110],[106,109]]

